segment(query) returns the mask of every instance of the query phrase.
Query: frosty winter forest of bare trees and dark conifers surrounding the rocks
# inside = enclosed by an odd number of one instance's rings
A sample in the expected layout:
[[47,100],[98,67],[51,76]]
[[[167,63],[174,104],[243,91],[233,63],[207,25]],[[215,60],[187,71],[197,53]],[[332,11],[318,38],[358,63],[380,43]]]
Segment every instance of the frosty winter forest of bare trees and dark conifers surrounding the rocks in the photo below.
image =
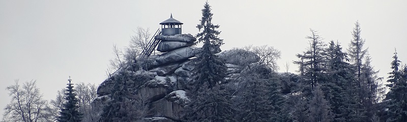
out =
[[[148,72],[158,66],[150,55],[140,53],[149,47],[152,34],[140,27],[129,46],[113,46],[116,57],[110,60],[109,77],[99,88],[68,79],[67,87],[47,102],[35,81],[20,85],[16,80],[6,88],[12,100],[4,108],[2,121],[407,121],[407,66],[401,65],[394,49],[388,64],[392,72],[379,77],[358,21],[350,30],[353,39],[348,45],[324,41],[310,29],[304,35],[308,45],[293,59],[297,72],[290,73],[277,72],[278,47],[219,51],[224,43],[218,37],[219,25],[212,23],[211,10],[207,2],[196,26],[194,45],[202,47],[172,73],[159,76],[157,71],[150,76]],[[180,82],[178,77],[174,88],[168,86],[171,74],[186,78]],[[151,94],[143,93],[144,87],[165,87],[169,92],[156,100],[159,95],[143,96]],[[181,108],[174,115],[156,114],[154,110],[160,108],[152,106],[161,99],[177,99],[173,101]]]

